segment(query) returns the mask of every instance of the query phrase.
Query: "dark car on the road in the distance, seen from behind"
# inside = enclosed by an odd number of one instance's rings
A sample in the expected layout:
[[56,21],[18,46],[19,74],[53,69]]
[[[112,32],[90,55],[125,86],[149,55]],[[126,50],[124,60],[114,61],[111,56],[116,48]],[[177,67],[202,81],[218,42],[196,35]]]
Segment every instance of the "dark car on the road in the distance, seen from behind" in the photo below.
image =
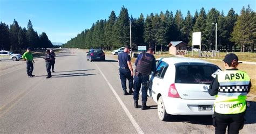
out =
[[87,60],[90,61],[105,61],[105,53],[101,49],[91,49],[87,53]]

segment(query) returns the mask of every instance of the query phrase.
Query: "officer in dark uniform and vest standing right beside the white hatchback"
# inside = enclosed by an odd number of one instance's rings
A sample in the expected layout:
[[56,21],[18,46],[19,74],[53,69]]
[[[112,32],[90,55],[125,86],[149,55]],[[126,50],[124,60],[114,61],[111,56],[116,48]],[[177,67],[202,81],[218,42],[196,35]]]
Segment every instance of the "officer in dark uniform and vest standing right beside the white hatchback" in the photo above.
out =
[[142,110],[150,109],[146,105],[147,89],[149,86],[149,75],[156,70],[156,59],[154,58],[154,49],[150,47],[147,53],[143,52],[138,55],[135,62],[135,76],[134,76],[134,107],[138,108],[139,90],[142,87]]

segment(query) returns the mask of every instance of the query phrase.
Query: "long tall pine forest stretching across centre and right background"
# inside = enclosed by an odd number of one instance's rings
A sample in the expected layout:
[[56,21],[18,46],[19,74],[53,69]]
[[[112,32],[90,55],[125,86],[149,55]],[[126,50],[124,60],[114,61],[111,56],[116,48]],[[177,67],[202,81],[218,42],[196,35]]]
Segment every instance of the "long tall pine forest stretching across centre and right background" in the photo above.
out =
[[132,48],[146,45],[166,48],[170,41],[184,41],[191,46],[192,33],[202,32],[202,49],[213,50],[215,47],[215,25],[218,23],[218,50],[221,51],[251,51],[255,50],[256,41],[256,16],[250,8],[243,7],[238,15],[234,9],[230,9],[227,15],[223,11],[212,8],[206,13],[204,8],[194,13],[188,11],[187,15],[177,10],[166,10],[160,14],[151,13],[139,18],[129,17],[128,10],[122,7],[119,16],[114,11],[109,19],[97,20],[90,29],[79,33],[72,38],[64,47],[68,48],[113,48],[130,45],[130,26],[132,31]]

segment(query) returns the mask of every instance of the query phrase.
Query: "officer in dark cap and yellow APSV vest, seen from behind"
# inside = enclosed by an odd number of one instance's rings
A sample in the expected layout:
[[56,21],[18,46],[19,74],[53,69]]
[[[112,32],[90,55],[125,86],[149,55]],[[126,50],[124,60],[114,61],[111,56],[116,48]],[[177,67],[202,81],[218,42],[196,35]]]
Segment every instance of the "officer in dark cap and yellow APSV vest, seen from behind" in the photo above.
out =
[[251,88],[250,77],[237,69],[237,55],[227,54],[223,60],[226,70],[219,72],[210,85],[208,93],[216,95],[213,125],[215,133],[239,133],[244,126],[246,95]]

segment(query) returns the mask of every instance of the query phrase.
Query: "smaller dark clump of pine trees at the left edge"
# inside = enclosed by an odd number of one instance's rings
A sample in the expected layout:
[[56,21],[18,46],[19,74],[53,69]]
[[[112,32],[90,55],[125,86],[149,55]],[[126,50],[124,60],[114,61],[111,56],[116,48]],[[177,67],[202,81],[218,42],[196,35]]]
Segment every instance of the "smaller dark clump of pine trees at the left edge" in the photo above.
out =
[[27,29],[18,25],[14,19],[14,23],[6,25],[0,23],[0,48],[1,50],[9,50],[12,52],[22,52],[27,47],[32,49],[53,47],[51,41],[45,32],[41,34],[33,30],[31,21],[28,22]]

